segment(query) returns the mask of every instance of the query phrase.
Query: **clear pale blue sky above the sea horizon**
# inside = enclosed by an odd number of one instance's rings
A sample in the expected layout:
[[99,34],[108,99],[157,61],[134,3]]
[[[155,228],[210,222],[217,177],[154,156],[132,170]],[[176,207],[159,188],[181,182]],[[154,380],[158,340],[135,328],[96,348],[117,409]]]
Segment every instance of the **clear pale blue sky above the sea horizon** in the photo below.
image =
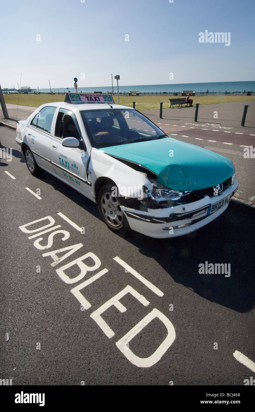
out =
[[[75,76],[78,88],[110,87],[111,73],[121,85],[255,80],[254,0],[81,1],[2,2],[2,88],[21,73],[40,89]],[[205,30],[230,32],[230,46],[200,43]]]

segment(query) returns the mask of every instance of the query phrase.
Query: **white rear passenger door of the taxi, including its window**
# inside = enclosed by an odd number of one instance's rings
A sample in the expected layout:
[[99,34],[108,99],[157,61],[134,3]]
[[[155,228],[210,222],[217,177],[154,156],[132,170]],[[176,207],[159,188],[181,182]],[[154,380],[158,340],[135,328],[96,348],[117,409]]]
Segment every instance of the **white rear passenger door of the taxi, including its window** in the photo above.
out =
[[53,171],[50,156],[51,129],[57,107],[42,108],[30,122],[26,133],[26,143],[33,152],[39,166]]

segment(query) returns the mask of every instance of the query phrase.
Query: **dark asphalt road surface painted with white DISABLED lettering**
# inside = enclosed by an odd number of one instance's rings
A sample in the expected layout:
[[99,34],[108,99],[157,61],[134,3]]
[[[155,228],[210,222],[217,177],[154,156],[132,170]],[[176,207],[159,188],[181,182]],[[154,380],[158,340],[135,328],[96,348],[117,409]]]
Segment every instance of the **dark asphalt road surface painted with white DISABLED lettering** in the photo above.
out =
[[[96,204],[46,172],[31,176],[15,131],[0,133],[13,147],[12,161],[0,162],[2,378],[243,386],[255,376],[233,356],[255,362],[254,215],[229,207],[167,240],[115,234]],[[248,197],[250,183],[241,186]],[[200,274],[206,262],[227,272]]]

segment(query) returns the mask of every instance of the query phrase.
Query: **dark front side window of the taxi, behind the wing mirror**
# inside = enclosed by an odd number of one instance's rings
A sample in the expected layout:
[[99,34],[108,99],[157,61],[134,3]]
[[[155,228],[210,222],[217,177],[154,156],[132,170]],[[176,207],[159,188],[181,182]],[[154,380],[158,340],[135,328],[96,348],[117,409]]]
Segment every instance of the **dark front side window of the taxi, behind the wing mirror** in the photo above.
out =
[[81,132],[73,112],[67,109],[60,109],[57,114],[55,126],[55,136],[64,139],[66,137],[76,137],[80,140]]

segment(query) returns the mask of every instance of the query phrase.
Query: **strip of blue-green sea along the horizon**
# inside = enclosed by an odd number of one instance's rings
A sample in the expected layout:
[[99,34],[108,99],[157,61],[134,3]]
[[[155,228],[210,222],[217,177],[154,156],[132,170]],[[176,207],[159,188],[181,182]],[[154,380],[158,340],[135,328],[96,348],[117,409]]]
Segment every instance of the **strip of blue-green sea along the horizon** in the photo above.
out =
[[[94,86],[94,87],[80,87],[79,82],[77,82],[78,88],[77,91],[79,93],[94,93],[95,91],[102,91],[103,93],[111,93],[112,91],[112,86]],[[163,93],[164,91],[167,93],[172,93],[172,92],[181,92],[183,90],[192,90],[196,91],[197,93],[205,92],[206,89],[208,89],[209,92],[222,92],[225,93],[225,91],[230,91],[230,92],[240,92],[242,93],[244,90],[245,91],[255,91],[255,81],[250,81],[250,82],[212,82],[212,83],[178,83],[178,84],[139,84],[139,85],[127,85],[127,86],[122,86],[119,84],[119,91],[124,93],[128,93],[129,91],[139,91],[140,93]],[[74,87],[51,87],[52,91],[55,91],[56,93],[66,93],[68,90],[70,90],[71,93],[75,92]],[[39,91],[42,93],[49,93],[51,91],[50,89],[40,89]],[[38,88],[36,89],[38,91]],[[113,85],[113,92],[117,93],[117,84],[116,80]]]

